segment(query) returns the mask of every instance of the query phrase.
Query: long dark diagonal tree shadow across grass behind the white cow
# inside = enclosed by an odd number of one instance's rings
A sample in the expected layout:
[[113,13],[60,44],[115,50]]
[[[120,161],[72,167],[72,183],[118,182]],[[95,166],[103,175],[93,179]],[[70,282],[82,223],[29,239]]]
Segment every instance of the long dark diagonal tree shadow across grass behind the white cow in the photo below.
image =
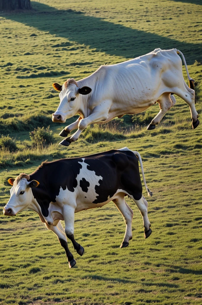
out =
[[[29,27],[49,32],[56,37],[67,38],[79,44],[89,45],[95,52],[111,56],[134,58],[151,52],[155,48],[181,50],[188,64],[202,59],[202,45],[180,42],[157,34],[134,30],[102,18],[86,16],[79,11],[58,10],[48,5],[32,2],[33,11],[26,13],[3,13],[2,16],[24,23]],[[53,43],[55,45],[55,42]],[[54,46],[53,46],[54,47]],[[72,48],[75,49],[75,48]],[[67,51],[71,51],[71,47]]]

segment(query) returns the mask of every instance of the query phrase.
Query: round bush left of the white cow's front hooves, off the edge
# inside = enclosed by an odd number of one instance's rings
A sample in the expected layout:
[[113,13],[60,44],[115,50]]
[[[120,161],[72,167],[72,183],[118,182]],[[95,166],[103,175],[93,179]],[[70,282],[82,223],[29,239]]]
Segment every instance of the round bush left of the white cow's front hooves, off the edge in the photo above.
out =
[[32,146],[40,149],[45,148],[54,142],[53,131],[50,130],[50,126],[47,128],[34,128],[34,131],[30,132],[30,138]]

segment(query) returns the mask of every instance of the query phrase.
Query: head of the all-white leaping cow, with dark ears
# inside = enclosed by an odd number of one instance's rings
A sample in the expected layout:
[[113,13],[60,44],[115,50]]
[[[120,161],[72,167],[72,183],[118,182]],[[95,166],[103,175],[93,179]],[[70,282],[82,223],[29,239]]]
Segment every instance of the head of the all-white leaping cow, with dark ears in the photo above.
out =
[[61,86],[57,83],[53,84],[55,90],[60,91],[60,104],[55,113],[53,113],[53,122],[64,123],[68,118],[73,117],[81,108],[81,95],[87,95],[91,92],[91,88],[79,88],[77,82],[71,78],[65,81]]

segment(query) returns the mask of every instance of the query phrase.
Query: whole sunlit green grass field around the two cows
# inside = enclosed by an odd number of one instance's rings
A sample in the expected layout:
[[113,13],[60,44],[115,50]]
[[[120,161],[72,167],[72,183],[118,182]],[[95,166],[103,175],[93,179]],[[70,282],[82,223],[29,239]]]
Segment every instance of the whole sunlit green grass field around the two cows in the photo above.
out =
[[[52,83],[88,76],[101,64],[130,59],[154,48],[183,52],[202,100],[202,1],[31,1],[30,12],[0,12],[0,133],[16,152],[0,149],[0,206],[7,179],[30,174],[44,160],[82,156],[127,146],[141,153],[152,235],[144,239],[134,210],[133,239],[119,249],[125,225],[109,203],[75,214],[75,239],[85,248],[69,269],[63,248],[36,213],[0,215],[0,304],[188,305],[202,304],[202,123],[192,130],[188,105],[177,98],[154,131],[146,125],[158,105],[136,117],[93,126],[78,142],[59,146],[65,124],[52,123],[59,104]],[[187,81],[183,66],[184,78]],[[199,117],[200,119],[200,117]],[[69,122],[72,122],[69,119]],[[145,122],[145,124],[144,124]],[[49,126],[55,143],[31,146],[29,132]],[[146,196],[145,190],[143,195]]]

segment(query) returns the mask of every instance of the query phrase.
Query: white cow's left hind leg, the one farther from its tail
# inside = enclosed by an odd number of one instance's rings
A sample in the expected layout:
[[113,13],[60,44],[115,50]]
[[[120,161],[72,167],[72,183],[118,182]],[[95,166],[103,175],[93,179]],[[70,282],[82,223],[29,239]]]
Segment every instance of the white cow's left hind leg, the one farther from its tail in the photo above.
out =
[[151,123],[148,125],[147,129],[152,130],[155,129],[156,125],[162,120],[162,118],[165,116],[165,113],[168,112],[168,110],[175,105],[176,99],[173,95],[170,95],[170,93],[164,93],[160,96],[158,99],[158,104],[160,111],[159,113],[153,118]]

